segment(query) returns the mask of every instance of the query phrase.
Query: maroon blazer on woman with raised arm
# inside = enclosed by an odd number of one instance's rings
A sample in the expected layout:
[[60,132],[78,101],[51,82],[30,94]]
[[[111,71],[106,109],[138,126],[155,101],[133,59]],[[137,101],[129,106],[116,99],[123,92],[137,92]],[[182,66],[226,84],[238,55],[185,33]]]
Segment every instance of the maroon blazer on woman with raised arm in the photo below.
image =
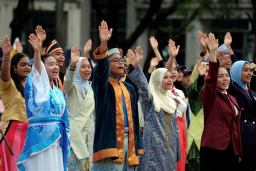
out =
[[[241,115],[237,100],[217,89],[218,62],[209,63],[208,76],[200,98],[204,108],[204,131],[201,147],[218,150],[227,148],[232,141],[236,155],[242,155],[239,118]],[[239,110],[235,116],[234,105]]]

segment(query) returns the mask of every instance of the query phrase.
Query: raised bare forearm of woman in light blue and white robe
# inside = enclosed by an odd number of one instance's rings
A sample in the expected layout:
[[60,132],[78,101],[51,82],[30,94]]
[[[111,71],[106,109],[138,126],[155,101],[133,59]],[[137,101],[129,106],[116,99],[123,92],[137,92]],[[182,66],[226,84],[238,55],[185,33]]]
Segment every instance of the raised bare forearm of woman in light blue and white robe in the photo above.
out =
[[33,66],[37,69],[38,73],[41,74],[42,66],[41,66],[41,48],[42,48],[42,41],[41,38],[37,38],[35,34],[29,35],[29,43],[34,49],[34,60]]

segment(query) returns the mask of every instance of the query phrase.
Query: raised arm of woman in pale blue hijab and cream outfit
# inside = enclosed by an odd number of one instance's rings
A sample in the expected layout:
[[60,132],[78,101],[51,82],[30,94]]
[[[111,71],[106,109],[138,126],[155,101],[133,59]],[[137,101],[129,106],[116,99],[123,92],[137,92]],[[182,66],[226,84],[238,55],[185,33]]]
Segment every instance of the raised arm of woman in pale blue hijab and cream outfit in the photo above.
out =
[[68,93],[73,87],[74,74],[79,60],[80,52],[78,51],[78,45],[74,45],[71,49],[71,62],[69,68],[66,70],[64,76],[64,90]]

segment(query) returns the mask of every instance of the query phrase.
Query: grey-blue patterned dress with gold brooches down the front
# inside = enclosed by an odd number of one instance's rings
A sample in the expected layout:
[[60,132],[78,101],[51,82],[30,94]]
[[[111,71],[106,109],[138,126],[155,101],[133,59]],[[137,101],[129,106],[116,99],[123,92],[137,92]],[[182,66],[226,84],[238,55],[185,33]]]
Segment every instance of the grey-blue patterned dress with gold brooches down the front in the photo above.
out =
[[128,76],[139,87],[139,100],[145,119],[145,153],[139,156],[138,170],[177,170],[177,161],[181,156],[176,113],[166,113],[163,110],[158,113],[154,110],[142,68],[135,68]]

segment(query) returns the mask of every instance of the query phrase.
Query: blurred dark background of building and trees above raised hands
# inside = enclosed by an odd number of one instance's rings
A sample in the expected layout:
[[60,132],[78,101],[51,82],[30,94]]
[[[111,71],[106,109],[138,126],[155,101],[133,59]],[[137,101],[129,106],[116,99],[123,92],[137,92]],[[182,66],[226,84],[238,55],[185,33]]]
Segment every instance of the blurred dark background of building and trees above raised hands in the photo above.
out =
[[0,36],[9,35],[12,44],[19,37],[23,52],[32,56],[28,35],[41,25],[47,35],[43,46],[56,39],[69,58],[74,44],[82,49],[91,38],[92,51],[99,46],[98,25],[104,19],[113,28],[109,48],[126,52],[140,45],[145,70],[154,56],[151,35],[158,40],[163,58],[169,57],[168,40],[176,41],[181,47],[178,63],[191,68],[201,52],[199,30],[214,33],[220,45],[225,33],[231,32],[238,59],[254,59],[255,10],[253,0],[0,0]]

